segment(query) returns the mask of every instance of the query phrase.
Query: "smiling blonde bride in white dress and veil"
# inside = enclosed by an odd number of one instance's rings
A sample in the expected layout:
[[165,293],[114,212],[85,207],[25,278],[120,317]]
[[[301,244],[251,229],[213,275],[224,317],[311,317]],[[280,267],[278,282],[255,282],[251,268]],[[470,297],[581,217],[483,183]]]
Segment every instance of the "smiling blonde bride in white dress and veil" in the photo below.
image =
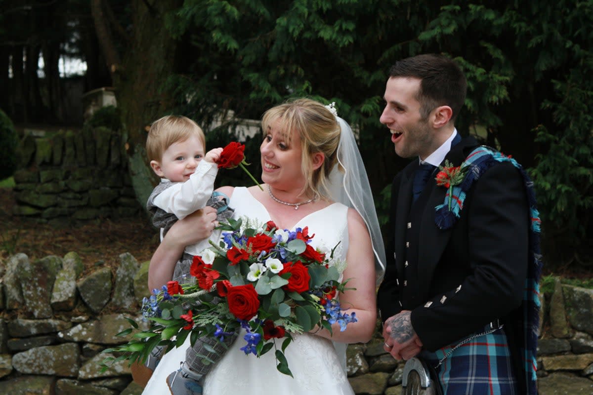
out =
[[[368,342],[377,322],[375,287],[384,271],[381,233],[364,165],[352,130],[333,107],[297,99],[266,111],[260,147],[263,191],[258,187],[222,187],[230,197],[234,217],[266,223],[279,229],[309,229],[314,248],[329,251],[339,243],[334,261],[345,261],[342,277],[351,279],[339,300],[358,322],[333,335],[315,327],[294,335],[285,356],[294,378],[276,370],[273,353],[246,355],[241,332],[224,357],[205,378],[203,393],[212,394],[353,394],[346,377],[347,343]],[[151,259],[150,289],[173,275],[185,245],[208,237],[216,226],[215,213],[205,210],[177,221]],[[198,239],[198,240],[199,240]],[[189,339],[189,338],[188,338]],[[167,376],[184,360],[183,346],[164,355],[143,394],[169,393]]]

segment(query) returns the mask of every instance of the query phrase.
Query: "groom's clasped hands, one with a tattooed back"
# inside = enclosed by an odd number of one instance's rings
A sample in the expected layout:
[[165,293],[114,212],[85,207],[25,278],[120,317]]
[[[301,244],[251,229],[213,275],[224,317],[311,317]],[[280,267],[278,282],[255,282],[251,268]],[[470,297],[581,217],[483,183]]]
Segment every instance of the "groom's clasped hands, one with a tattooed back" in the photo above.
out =
[[403,310],[389,317],[383,325],[384,349],[393,358],[408,359],[415,357],[422,350],[422,342],[410,320],[411,311]]

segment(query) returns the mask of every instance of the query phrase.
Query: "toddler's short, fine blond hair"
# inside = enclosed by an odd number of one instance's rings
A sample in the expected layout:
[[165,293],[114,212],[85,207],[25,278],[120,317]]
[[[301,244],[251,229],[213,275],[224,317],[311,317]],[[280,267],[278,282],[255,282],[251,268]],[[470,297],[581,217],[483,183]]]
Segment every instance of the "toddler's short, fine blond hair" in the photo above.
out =
[[171,144],[184,142],[192,136],[197,136],[206,149],[206,137],[197,123],[182,115],[166,115],[154,121],[150,126],[146,138],[146,156],[148,160],[160,162],[162,153]]

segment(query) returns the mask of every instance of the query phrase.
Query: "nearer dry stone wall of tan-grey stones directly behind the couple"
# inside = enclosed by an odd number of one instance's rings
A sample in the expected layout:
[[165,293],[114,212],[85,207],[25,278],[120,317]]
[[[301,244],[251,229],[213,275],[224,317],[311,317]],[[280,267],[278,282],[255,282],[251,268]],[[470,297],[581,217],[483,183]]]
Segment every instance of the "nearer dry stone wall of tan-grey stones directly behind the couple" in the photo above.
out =
[[[106,348],[127,341],[117,333],[148,296],[148,262],[129,253],[119,266],[85,273],[78,254],[31,262],[24,253],[0,262],[0,393],[140,394],[126,362],[101,371]],[[542,300],[538,348],[540,395],[593,393],[593,290],[556,281]],[[347,349],[356,394],[401,393],[403,362],[385,353],[377,333]]]

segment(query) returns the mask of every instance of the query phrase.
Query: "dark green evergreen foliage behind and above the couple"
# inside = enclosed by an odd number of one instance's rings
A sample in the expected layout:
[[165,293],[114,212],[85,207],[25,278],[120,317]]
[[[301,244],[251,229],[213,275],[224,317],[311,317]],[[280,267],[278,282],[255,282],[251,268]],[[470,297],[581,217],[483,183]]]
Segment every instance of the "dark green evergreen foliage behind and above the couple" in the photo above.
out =
[[[585,243],[593,2],[188,0],[166,23],[184,56],[165,90],[178,113],[202,125],[227,110],[259,119],[291,97],[335,101],[359,133],[381,223],[387,185],[407,163],[378,121],[388,68],[419,53],[448,54],[468,79],[457,129],[479,130],[486,144],[531,169],[546,238],[557,229],[573,245]],[[209,146],[231,139],[227,126],[204,128]],[[258,145],[248,142],[246,152],[254,167]],[[251,183],[225,173],[221,184]]]

